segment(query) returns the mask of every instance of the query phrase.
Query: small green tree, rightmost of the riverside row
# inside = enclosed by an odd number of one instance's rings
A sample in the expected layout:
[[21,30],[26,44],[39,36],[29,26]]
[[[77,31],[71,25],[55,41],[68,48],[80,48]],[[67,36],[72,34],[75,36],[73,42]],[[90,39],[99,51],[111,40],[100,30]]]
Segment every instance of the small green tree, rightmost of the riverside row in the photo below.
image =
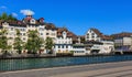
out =
[[47,50],[47,53],[53,54],[53,51],[52,51],[53,46],[54,46],[54,43],[53,43],[52,37],[46,37],[46,40],[45,40],[45,48]]

